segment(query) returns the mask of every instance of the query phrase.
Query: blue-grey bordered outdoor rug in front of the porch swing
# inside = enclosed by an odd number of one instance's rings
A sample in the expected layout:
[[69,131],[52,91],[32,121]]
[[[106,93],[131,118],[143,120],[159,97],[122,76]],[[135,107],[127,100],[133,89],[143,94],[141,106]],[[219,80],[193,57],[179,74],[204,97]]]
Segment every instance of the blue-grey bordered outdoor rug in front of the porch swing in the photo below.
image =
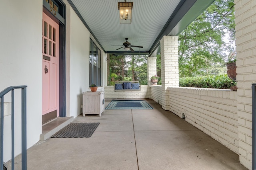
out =
[[145,100],[112,100],[105,109],[153,109]]

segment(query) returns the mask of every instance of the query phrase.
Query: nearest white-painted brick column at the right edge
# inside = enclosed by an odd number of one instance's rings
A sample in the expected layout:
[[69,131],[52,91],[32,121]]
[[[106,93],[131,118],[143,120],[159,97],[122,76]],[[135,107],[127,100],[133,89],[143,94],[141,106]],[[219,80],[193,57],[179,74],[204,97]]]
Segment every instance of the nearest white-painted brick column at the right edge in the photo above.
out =
[[239,159],[252,169],[252,83],[256,83],[256,0],[235,0]]

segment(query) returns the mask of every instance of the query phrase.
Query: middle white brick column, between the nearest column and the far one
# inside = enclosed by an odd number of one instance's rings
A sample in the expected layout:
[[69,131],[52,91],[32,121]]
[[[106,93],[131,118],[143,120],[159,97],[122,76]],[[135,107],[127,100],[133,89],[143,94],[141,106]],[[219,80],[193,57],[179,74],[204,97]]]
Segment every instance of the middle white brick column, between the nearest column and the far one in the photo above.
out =
[[169,110],[169,86],[179,86],[178,36],[164,36],[161,47],[162,108]]

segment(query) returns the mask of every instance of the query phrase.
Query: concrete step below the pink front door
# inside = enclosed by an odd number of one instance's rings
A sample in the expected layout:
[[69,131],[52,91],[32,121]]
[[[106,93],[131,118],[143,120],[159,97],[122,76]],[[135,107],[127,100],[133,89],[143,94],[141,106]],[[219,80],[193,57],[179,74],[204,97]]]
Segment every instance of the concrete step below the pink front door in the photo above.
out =
[[57,117],[56,119],[53,119],[52,121],[49,121],[42,125],[42,134],[40,135],[40,141],[45,141],[54,133],[58,132],[60,129],[68,125],[74,121],[74,117]]

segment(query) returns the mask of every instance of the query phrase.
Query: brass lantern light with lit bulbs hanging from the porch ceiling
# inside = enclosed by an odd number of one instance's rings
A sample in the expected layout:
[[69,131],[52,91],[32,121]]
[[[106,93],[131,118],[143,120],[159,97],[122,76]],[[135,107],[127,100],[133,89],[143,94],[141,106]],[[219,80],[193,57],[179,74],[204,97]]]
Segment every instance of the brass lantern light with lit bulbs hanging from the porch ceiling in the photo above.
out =
[[132,6],[133,2],[118,2],[120,23],[132,23]]

